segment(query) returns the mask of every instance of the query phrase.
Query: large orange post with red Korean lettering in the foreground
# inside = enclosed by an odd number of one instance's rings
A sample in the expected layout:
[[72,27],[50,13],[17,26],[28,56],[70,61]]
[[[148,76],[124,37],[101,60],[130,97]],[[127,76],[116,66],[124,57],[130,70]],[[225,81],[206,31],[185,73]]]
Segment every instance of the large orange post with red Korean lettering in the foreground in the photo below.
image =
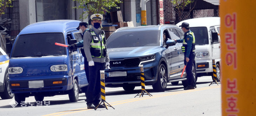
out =
[[255,0],[220,0],[222,116],[256,111]]

